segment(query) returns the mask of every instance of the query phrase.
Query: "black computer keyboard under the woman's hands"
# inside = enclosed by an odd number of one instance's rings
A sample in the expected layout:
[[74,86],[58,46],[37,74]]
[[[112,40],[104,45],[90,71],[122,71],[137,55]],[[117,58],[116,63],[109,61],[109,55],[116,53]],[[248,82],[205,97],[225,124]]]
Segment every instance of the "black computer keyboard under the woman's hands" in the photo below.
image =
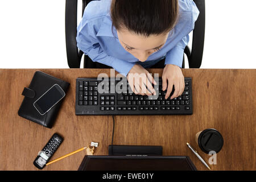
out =
[[164,98],[162,78],[155,85],[156,96],[141,96],[131,92],[128,82],[122,78],[76,79],[76,115],[162,115],[192,114],[192,79],[185,78],[181,96]]

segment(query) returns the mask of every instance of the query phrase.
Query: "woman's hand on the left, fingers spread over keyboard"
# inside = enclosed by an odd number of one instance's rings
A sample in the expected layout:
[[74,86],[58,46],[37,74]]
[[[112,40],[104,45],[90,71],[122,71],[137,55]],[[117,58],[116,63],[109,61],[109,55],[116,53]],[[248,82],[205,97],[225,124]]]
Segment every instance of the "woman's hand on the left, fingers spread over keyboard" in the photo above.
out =
[[152,83],[156,85],[156,82],[152,75],[141,65],[135,64],[130,69],[130,72],[127,74],[127,80],[135,94],[141,94],[142,96],[156,95],[156,91],[152,86]]

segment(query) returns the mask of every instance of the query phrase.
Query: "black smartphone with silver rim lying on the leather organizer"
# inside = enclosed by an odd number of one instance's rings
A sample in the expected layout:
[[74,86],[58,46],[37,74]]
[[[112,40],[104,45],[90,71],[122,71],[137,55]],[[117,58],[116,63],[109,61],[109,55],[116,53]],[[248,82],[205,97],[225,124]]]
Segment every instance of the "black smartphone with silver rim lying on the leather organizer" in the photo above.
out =
[[44,115],[64,96],[63,89],[61,89],[60,85],[55,84],[34,102],[34,107],[41,115]]

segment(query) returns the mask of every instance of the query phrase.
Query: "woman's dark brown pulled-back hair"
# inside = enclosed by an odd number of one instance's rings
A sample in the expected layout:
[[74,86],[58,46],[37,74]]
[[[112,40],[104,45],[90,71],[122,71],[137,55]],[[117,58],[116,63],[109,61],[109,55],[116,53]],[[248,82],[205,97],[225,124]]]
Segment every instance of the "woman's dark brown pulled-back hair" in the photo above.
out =
[[178,11],[178,0],[112,0],[110,16],[112,28],[148,37],[171,31]]

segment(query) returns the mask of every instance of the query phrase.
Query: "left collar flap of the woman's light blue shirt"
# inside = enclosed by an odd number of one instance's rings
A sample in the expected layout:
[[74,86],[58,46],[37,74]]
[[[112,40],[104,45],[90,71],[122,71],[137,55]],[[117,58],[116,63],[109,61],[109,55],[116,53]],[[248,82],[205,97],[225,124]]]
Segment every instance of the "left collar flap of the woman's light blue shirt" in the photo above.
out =
[[96,36],[110,36],[113,38],[118,38],[117,30],[115,30],[114,26],[113,26],[113,32],[112,32],[112,19],[110,18],[109,14],[107,14],[103,19],[103,22]]

